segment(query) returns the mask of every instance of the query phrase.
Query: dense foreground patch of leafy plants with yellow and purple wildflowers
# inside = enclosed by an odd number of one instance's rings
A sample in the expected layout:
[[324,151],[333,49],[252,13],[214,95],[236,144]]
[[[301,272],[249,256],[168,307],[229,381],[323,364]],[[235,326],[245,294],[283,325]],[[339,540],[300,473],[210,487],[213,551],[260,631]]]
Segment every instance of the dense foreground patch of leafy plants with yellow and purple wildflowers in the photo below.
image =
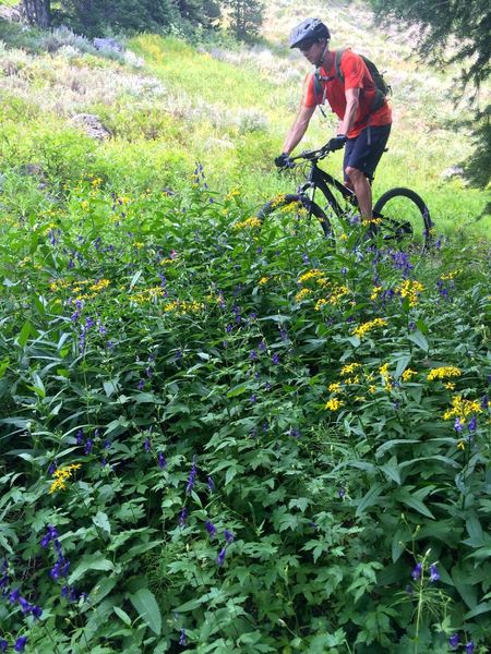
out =
[[3,651],[487,651],[483,259],[251,210],[7,213]]

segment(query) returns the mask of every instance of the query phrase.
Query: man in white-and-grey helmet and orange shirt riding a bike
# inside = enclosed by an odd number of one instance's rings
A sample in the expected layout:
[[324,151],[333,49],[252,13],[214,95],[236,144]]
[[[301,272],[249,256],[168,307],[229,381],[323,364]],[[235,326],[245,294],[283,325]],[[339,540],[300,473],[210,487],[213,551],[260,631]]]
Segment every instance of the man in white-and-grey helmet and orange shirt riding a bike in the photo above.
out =
[[336,51],[330,50],[330,39],[327,26],[319,19],[307,19],[291,31],[290,48],[299,48],[316,70],[306,78],[300,108],[275,164],[285,166],[302,140],[315,108],[327,100],[340,121],[328,146],[332,150],[345,147],[345,183],[355,191],[362,218],[371,220],[370,182],[391,133],[392,111],[385,97],[378,100],[376,85],[367,64],[350,49],[340,56],[343,81],[339,78]]

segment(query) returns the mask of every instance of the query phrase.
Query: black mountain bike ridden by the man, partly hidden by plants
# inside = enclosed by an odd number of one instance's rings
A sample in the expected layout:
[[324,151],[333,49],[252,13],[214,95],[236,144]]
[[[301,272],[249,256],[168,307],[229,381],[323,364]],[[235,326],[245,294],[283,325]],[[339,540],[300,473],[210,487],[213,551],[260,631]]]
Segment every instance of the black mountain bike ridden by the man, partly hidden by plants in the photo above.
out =
[[[282,195],[267,202],[258,211],[256,217],[264,222],[266,219],[273,220],[275,216],[284,216],[285,209],[295,208],[299,219],[316,219],[324,235],[331,239],[335,239],[336,233],[333,229],[333,217],[343,219],[351,215],[351,222],[360,221],[354,191],[318,166],[331,152],[328,146],[324,145],[318,150],[306,150],[296,157],[289,157],[280,170],[303,166],[306,181],[299,185],[297,193]],[[325,208],[315,202],[318,189],[327,201]],[[345,206],[332,189],[344,198]],[[423,199],[410,189],[397,187],[386,191],[373,206],[373,218],[374,221],[368,228],[369,234],[380,235],[384,241],[392,241],[399,249],[414,253],[422,253],[430,246],[433,227],[430,211]]]

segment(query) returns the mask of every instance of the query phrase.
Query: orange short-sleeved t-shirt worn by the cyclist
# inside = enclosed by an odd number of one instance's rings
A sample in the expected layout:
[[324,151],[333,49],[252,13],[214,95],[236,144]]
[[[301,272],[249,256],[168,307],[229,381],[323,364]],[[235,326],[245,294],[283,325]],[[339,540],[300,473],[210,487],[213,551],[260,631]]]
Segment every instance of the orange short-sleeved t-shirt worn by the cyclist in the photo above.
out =
[[[336,52],[333,51],[335,56]],[[328,77],[327,81],[321,80],[322,93],[315,97],[314,86],[314,73],[309,73],[306,77],[302,106],[303,107],[316,107],[324,101],[324,98],[331,105],[334,113],[337,114],[339,120],[343,120],[346,111],[346,88],[361,88],[360,93],[360,105],[358,107],[357,114],[352,128],[347,134],[348,138],[355,138],[364,130],[368,125],[388,125],[392,123],[392,110],[388,106],[387,100],[382,105],[380,109],[371,112],[373,99],[376,93],[375,83],[372,76],[359,55],[351,52],[351,50],[345,50],[339,63],[340,71],[345,77],[345,83],[336,76],[335,57],[333,57],[333,63],[328,70],[323,68],[320,69],[322,77]]]

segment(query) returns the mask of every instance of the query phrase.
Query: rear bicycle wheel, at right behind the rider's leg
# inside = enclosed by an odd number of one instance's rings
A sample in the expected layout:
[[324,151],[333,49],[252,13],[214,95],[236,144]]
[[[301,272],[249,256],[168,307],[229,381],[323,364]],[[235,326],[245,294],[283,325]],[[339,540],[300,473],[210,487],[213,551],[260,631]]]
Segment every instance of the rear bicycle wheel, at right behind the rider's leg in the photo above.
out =
[[391,189],[373,206],[374,218],[385,241],[394,241],[400,250],[422,253],[431,243],[430,211],[423,199],[410,189]]

